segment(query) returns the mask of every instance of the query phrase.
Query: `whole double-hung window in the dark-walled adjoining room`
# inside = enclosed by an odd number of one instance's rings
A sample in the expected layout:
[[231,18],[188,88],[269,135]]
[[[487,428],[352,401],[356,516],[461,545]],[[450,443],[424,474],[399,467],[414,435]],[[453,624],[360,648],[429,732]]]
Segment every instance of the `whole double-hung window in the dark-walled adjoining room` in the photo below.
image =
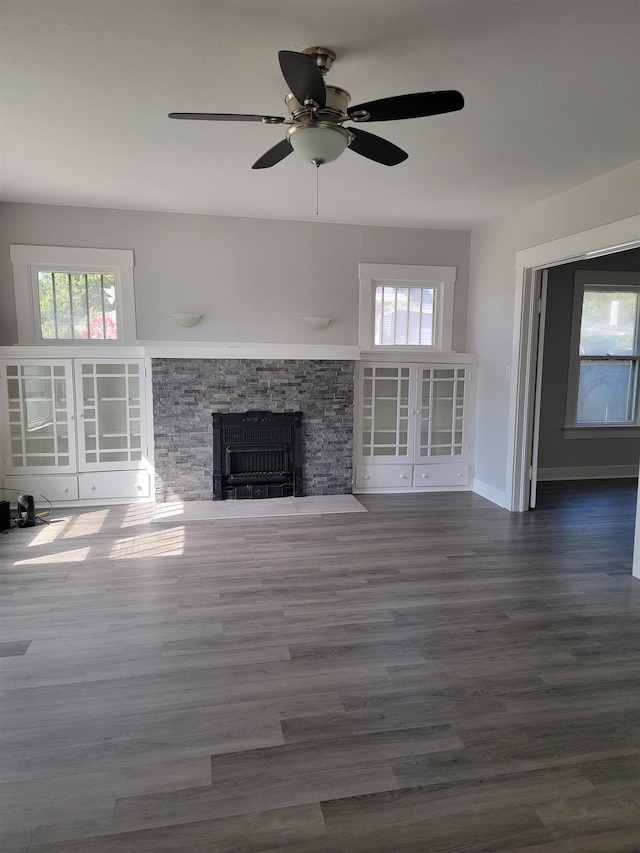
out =
[[637,273],[576,273],[569,428],[639,424],[639,315]]

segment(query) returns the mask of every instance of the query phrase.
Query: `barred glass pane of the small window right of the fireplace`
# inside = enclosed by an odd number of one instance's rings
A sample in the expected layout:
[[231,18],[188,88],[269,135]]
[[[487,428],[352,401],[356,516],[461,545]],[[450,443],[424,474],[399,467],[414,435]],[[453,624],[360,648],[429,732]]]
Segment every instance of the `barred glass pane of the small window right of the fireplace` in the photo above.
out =
[[434,289],[376,286],[376,346],[431,346]]

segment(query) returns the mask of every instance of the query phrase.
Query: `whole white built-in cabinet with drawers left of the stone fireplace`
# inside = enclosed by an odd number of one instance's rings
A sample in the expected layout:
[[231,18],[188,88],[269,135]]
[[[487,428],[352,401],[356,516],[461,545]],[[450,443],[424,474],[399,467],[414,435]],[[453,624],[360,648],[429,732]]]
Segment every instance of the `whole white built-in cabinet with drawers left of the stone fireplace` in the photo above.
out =
[[144,359],[4,359],[0,370],[5,498],[149,498]]

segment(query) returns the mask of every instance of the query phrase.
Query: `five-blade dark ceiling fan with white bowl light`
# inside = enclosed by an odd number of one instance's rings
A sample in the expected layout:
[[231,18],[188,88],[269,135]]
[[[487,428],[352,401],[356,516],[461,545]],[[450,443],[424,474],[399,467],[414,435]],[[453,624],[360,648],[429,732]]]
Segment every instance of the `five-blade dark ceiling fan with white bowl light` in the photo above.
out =
[[288,125],[286,137],[270,148],[251,167],[266,169],[295,151],[303,160],[321,166],[336,160],[345,148],[376,163],[396,166],[409,156],[392,142],[359,127],[343,127],[344,122],[397,121],[455,112],[464,98],[455,89],[416,92],[349,106],[351,95],[337,86],[326,86],[324,75],[335,53],[326,47],[309,47],[302,53],[281,50],[280,69],[289,86],[285,103],[289,119],[281,116],[241,113],[169,113],[169,118],[196,121],[261,121]]

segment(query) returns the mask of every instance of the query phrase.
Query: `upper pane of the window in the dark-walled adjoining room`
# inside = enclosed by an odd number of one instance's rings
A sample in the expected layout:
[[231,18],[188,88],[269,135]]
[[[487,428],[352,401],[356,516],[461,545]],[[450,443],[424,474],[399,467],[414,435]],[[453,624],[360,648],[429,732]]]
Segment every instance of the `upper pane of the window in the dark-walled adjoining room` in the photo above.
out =
[[638,294],[585,290],[580,355],[634,355]]

